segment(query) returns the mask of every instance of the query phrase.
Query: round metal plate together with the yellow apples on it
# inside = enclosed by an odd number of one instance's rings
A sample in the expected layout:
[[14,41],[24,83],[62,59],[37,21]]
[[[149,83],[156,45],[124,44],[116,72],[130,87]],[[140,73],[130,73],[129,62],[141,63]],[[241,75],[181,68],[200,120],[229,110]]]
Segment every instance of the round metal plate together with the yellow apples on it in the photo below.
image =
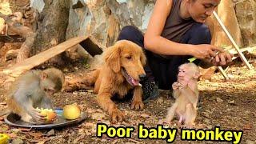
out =
[[17,114],[8,114],[5,122],[10,126],[19,126],[26,128],[51,129],[61,126],[70,126],[78,124],[86,119],[86,114],[80,110],[77,104],[66,105],[63,108],[43,109],[37,108],[41,114],[46,117],[44,124],[31,124],[23,122]]

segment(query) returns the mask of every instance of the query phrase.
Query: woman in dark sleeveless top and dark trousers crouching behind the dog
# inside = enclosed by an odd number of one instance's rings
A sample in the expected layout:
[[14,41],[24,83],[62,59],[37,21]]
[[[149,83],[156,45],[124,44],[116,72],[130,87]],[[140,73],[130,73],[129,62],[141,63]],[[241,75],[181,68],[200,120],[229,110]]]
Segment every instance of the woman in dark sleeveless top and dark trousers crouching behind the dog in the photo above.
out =
[[[142,83],[146,98],[158,96],[158,87],[171,90],[177,80],[178,66],[188,58],[198,58],[203,67],[224,66],[232,55],[210,45],[209,28],[204,24],[220,0],[157,0],[146,34],[125,26],[118,40],[127,39],[146,51],[147,81]],[[156,82],[158,86],[154,84]]]

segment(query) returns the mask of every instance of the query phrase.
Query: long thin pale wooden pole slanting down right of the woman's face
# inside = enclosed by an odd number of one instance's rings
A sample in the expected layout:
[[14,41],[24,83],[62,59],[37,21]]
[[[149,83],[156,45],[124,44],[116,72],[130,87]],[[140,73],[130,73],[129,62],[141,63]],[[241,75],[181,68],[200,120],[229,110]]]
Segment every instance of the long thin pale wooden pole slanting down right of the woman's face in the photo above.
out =
[[224,26],[224,24],[222,23],[221,19],[218,17],[218,14],[214,11],[214,17],[217,19],[218,23],[220,24],[220,26],[222,26],[222,30],[224,30],[225,34],[227,35],[228,38],[230,38],[230,42],[232,42],[235,50],[238,51],[238,55],[239,57],[242,59],[242,62],[246,63],[246,66],[249,70],[252,69],[252,66],[250,66],[250,63],[247,61],[247,59],[245,58],[245,56],[242,54],[241,50],[239,49],[238,45],[236,44],[236,42],[234,42],[234,39],[232,38],[232,36],[230,35],[229,31],[226,30],[226,26]]

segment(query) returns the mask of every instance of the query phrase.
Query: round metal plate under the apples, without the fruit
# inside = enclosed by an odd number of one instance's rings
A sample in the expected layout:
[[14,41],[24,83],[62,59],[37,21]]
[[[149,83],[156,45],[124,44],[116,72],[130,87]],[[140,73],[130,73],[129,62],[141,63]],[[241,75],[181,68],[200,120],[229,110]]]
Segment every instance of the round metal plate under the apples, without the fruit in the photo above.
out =
[[34,125],[27,122],[23,122],[17,114],[9,114],[5,118],[5,122],[10,126],[19,126],[19,127],[26,127],[26,128],[35,128],[35,129],[52,129],[62,126],[70,126],[74,124],[78,124],[86,119],[86,114],[83,112],[80,115],[80,118],[74,120],[67,120],[66,118],[62,117],[62,110],[55,110],[57,113],[57,119],[50,124],[42,124],[42,125]]

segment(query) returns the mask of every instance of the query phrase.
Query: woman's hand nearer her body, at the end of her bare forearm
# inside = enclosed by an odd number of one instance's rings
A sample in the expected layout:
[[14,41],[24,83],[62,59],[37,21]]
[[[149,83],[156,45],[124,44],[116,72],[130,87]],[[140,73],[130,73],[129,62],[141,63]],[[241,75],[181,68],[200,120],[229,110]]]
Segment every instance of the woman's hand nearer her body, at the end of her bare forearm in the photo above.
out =
[[194,56],[194,58],[198,58],[198,59],[210,59],[217,55],[216,52],[221,52],[221,53],[223,52],[222,48],[219,48],[218,46],[208,45],[208,44],[190,45],[190,46],[192,50],[191,54]]

